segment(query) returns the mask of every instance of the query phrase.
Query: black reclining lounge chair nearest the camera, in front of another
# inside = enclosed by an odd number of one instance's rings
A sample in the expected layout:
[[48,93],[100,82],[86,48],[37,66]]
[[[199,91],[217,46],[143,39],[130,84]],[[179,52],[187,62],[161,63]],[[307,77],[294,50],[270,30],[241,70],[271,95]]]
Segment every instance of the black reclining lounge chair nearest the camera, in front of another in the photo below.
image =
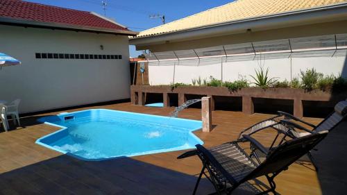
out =
[[[270,151],[267,151],[262,144],[252,137],[245,135],[244,139],[252,142],[260,151],[266,153],[266,159],[261,163],[255,162],[239,146],[240,142],[244,142],[241,140],[228,142],[211,149],[205,149],[198,144],[196,145],[196,150],[183,153],[178,156],[178,159],[198,155],[201,162],[203,162],[203,169],[198,176],[193,194],[196,194],[198,184],[203,175],[214,185],[217,191],[214,194],[231,194],[239,185],[260,176],[265,176],[270,185],[269,189],[266,189],[260,194],[269,192],[276,194],[276,183],[273,179],[280,172],[287,170],[290,164],[301,158],[301,156],[305,155],[316,144],[321,142],[321,139],[327,134],[328,131],[321,131],[320,133],[313,133],[298,139],[291,139]],[[208,174],[205,173],[205,169],[208,170]]]

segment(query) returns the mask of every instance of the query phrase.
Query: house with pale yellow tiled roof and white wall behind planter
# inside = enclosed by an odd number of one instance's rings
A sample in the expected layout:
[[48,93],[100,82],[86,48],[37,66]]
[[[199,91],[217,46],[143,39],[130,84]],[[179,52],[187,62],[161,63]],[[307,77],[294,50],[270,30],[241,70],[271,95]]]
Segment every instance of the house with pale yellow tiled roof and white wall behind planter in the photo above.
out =
[[347,1],[237,0],[142,31],[130,44],[150,51],[151,85],[251,80],[262,66],[279,80],[312,67],[347,77]]

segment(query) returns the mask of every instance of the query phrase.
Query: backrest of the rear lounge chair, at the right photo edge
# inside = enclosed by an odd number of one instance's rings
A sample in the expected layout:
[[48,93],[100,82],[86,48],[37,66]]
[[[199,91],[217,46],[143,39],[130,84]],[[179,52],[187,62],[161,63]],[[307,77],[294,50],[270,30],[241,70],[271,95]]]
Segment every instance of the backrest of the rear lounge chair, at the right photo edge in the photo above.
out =
[[321,123],[314,128],[315,132],[320,132],[322,130],[332,130],[335,128],[341,121],[347,117],[347,100],[340,101],[335,105],[335,111],[332,112],[329,117],[321,121]]

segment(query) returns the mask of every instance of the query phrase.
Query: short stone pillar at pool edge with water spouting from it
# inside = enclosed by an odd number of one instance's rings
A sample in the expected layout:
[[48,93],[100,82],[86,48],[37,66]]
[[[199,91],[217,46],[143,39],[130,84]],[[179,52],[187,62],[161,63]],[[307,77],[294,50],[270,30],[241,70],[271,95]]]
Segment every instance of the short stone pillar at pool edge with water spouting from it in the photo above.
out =
[[201,117],[203,121],[203,132],[212,130],[212,109],[211,97],[203,97],[201,99]]

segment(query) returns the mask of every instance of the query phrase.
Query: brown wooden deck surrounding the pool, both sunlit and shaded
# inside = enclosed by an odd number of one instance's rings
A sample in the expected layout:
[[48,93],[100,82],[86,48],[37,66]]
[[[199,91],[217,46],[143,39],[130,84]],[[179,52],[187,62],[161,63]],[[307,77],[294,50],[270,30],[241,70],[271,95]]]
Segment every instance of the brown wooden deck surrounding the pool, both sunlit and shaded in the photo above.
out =
[[[148,108],[130,103],[105,105],[115,110],[127,110],[153,115],[168,115],[173,108]],[[84,110],[87,108],[79,109]],[[67,110],[71,112],[75,110]],[[56,115],[47,113],[45,115]],[[40,115],[42,116],[42,115]],[[201,170],[197,158],[176,160],[183,151],[119,158],[100,162],[85,162],[62,155],[35,144],[43,135],[57,127],[38,124],[31,116],[21,119],[23,127],[0,133],[0,194],[191,194],[196,175]],[[244,115],[242,112],[214,111],[212,133],[197,131],[205,146],[235,139],[244,128],[271,115]],[[183,110],[179,117],[200,119],[201,110]],[[314,124],[321,119],[306,119]],[[259,137],[269,142],[268,135]],[[254,181],[257,188],[262,181]],[[344,180],[346,182],[346,180]],[[253,182],[251,182],[253,183]],[[321,194],[319,177],[310,163],[293,164],[276,178],[280,194]],[[267,183],[266,183],[267,185]],[[266,187],[265,185],[265,187]],[[245,186],[236,194],[252,188]],[[212,185],[203,179],[198,194],[213,192]]]

